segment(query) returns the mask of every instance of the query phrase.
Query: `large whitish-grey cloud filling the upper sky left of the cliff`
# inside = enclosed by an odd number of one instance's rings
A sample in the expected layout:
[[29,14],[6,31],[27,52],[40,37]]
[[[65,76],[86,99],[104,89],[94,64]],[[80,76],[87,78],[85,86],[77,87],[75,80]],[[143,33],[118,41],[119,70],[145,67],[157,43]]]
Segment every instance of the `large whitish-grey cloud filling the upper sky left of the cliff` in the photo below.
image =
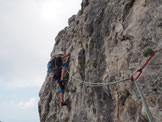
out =
[[77,13],[81,0],[0,3],[0,82],[9,88],[40,87],[54,38]]

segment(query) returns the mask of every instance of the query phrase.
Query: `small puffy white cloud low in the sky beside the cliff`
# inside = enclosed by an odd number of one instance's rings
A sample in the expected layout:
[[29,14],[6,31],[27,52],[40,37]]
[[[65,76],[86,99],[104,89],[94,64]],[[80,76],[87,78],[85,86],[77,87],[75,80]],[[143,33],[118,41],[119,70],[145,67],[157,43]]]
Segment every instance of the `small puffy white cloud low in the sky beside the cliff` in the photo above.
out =
[[36,99],[30,98],[28,101],[21,101],[17,104],[17,107],[21,108],[21,109],[32,109],[34,107],[36,107],[37,105],[37,101]]

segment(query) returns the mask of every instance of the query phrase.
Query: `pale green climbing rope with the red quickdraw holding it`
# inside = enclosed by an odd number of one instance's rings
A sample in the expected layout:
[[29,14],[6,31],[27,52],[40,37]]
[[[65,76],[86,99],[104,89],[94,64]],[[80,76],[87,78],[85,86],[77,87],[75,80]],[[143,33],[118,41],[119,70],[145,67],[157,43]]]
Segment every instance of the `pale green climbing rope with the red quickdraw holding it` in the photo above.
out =
[[137,76],[135,77],[135,79],[133,78],[133,74],[131,75],[130,78],[127,78],[127,79],[124,79],[124,80],[119,80],[119,81],[112,81],[112,82],[98,82],[98,83],[92,83],[92,82],[86,82],[86,81],[83,81],[83,80],[80,80],[78,78],[73,78],[74,80],[77,80],[79,81],[81,84],[85,84],[85,85],[88,85],[88,86],[92,86],[92,87],[98,87],[98,86],[106,86],[106,85],[113,85],[113,84],[117,84],[117,83],[120,83],[120,82],[124,82],[124,81],[128,81],[128,80],[131,80],[135,83],[135,86],[136,86],[136,89],[140,95],[140,98],[141,98],[141,101],[142,101],[142,104],[144,105],[144,110],[146,112],[146,115],[147,115],[147,118],[149,120],[149,122],[154,122],[154,119],[152,117],[152,114],[147,106],[147,103],[146,103],[146,100],[143,96],[143,93],[142,93],[142,90],[140,89],[138,83],[137,83],[137,79],[141,76],[142,74],[142,70],[148,65],[148,63],[150,62],[150,60],[153,58],[153,56],[159,51],[161,50],[161,47],[162,45],[160,45],[157,49],[155,49],[155,51],[151,54],[151,56],[149,56],[149,58],[146,60],[146,62],[142,65],[141,68],[139,68],[136,72],[138,72]]

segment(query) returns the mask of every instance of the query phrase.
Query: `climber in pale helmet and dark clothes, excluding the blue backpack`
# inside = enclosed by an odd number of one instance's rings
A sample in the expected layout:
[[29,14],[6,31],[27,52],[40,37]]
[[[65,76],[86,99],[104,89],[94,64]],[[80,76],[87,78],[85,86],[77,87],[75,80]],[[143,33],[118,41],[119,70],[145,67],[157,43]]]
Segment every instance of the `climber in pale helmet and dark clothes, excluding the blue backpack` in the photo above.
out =
[[60,51],[58,55],[55,57],[55,61],[54,61],[55,66],[53,68],[53,72],[54,72],[53,78],[57,81],[57,83],[60,86],[60,101],[62,106],[67,105],[64,102],[65,83],[63,78],[64,78],[65,71],[68,68],[68,63],[63,64],[63,60],[68,56],[70,56],[70,53],[65,54],[63,51]]

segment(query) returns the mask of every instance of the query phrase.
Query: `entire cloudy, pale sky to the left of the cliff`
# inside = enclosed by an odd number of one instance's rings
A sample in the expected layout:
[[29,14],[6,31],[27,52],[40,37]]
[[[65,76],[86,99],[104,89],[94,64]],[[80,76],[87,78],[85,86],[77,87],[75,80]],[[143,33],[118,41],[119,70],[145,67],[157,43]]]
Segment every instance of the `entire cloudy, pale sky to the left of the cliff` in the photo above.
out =
[[0,0],[0,121],[39,122],[55,37],[82,0]]

